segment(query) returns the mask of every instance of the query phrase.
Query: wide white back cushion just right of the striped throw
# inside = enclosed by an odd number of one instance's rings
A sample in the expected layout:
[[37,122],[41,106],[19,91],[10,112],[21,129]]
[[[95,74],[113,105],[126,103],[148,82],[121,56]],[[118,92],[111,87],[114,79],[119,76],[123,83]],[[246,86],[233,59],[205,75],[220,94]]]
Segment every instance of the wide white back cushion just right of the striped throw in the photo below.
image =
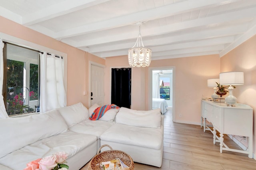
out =
[[161,127],[161,109],[137,111],[121,107],[116,114],[116,123],[137,127]]

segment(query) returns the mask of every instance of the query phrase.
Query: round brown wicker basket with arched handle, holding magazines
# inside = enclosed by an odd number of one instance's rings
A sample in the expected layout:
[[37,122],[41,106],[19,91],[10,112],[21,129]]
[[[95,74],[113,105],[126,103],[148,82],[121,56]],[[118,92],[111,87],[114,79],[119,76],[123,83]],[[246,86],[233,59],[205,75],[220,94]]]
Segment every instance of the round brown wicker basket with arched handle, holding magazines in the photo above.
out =
[[[103,152],[100,152],[101,148],[104,146],[108,146],[110,150],[105,150]],[[129,166],[129,168],[123,168],[122,170],[133,170],[134,169],[134,162],[130,155],[126,154],[125,152],[121,150],[113,150],[109,145],[104,144],[102,145],[97,154],[92,158],[92,160],[89,162],[88,169],[87,170],[101,170],[100,169],[100,162],[106,162],[110,161],[114,158],[120,158],[124,164]]]

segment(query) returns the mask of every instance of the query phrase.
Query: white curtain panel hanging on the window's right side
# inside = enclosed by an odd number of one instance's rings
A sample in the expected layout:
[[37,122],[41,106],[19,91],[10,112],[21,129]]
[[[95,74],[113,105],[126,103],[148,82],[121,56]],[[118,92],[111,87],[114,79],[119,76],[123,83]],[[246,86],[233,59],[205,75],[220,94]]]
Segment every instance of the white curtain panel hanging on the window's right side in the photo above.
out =
[[66,106],[64,59],[40,53],[40,113]]

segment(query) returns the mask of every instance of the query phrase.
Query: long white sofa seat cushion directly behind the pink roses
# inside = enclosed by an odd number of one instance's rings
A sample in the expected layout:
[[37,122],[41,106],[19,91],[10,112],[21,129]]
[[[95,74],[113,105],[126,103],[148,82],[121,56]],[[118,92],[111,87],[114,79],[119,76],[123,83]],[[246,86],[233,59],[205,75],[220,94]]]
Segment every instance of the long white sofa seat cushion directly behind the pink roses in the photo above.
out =
[[[93,135],[75,133],[72,131],[50,136],[38,140],[33,144],[27,145],[19,150],[0,158],[0,164],[8,166],[14,170],[22,170],[28,162],[52,155],[56,152],[66,152],[68,158],[74,156],[86,147],[89,147],[97,138]],[[95,145],[95,153],[97,148]],[[67,165],[69,162],[67,162]]]

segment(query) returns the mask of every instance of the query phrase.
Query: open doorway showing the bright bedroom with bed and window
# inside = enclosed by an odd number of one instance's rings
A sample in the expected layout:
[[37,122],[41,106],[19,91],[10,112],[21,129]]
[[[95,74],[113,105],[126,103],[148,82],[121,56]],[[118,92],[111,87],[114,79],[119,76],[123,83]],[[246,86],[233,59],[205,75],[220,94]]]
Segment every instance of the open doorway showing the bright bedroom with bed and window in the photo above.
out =
[[162,114],[171,111],[174,121],[174,67],[150,68],[149,79],[149,109],[160,108]]

